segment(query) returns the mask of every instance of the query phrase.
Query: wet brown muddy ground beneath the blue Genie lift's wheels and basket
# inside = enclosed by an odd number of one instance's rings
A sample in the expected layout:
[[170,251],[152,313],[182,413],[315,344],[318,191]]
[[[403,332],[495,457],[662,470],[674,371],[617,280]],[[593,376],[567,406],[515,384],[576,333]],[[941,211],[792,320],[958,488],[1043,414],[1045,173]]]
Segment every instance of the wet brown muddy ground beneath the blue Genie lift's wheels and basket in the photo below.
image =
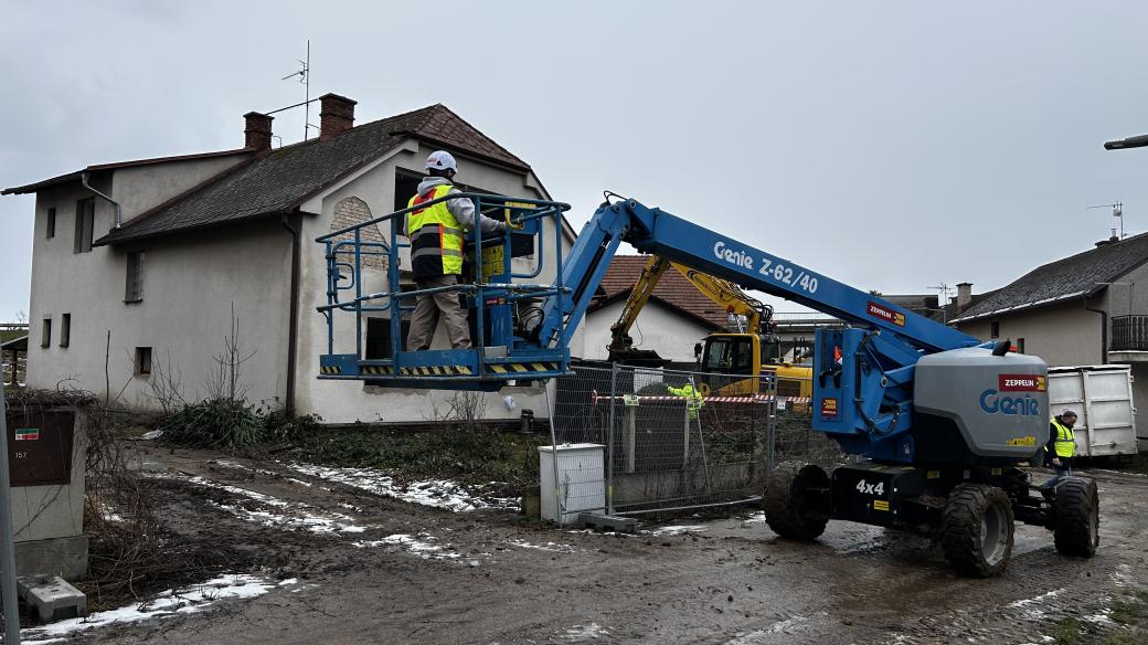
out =
[[[1006,575],[969,580],[928,539],[850,522],[814,544],[775,537],[753,510],[604,535],[408,504],[274,460],[147,449],[144,466],[170,526],[248,550],[253,573],[289,584],[76,642],[1148,643],[1143,475],[1087,473],[1102,499],[1094,559],[1018,524]],[[261,512],[300,519],[263,526]]]

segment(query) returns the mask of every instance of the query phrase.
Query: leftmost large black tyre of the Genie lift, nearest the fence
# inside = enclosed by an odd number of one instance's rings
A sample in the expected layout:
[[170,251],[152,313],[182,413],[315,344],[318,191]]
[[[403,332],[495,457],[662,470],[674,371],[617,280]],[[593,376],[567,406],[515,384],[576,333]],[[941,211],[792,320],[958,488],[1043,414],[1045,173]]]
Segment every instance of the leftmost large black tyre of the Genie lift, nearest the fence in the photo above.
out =
[[777,535],[790,539],[816,539],[829,523],[825,495],[829,475],[821,466],[785,461],[766,479],[762,506],[766,523]]

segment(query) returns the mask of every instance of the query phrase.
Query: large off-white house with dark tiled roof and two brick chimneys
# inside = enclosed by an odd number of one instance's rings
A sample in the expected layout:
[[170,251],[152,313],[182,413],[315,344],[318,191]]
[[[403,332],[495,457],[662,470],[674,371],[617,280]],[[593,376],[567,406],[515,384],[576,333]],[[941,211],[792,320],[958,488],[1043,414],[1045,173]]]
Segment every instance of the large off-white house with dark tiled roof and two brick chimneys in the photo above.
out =
[[[459,160],[464,189],[550,195],[529,164],[444,106],[354,125],[355,101],[319,102],[309,141],[274,148],[272,117],[249,112],[242,148],[91,165],[3,191],[36,194],[28,386],[70,381],[138,409],[194,401],[228,378],[219,358],[234,339],[253,403],[327,422],[424,422],[444,411],[453,394],[316,379],[327,286],[313,240],[405,208],[435,149]],[[574,233],[563,230],[568,250]],[[556,243],[553,233],[541,239]],[[528,271],[535,257],[514,262]],[[383,282],[383,263],[366,269],[366,282]],[[540,280],[552,277],[545,266]],[[389,352],[385,320],[364,326],[373,357]],[[434,347],[448,347],[442,329]],[[571,350],[580,352],[577,336]],[[540,386],[483,396],[488,419],[548,409]]]

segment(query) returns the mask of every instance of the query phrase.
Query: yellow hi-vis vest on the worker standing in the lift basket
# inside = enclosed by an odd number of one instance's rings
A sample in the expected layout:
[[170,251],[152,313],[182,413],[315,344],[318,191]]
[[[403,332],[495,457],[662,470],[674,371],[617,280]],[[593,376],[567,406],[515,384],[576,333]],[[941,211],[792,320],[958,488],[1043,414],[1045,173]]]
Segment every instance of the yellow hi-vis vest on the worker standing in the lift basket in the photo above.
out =
[[[444,196],[453,186],[435,186],[426,196],[414,195],[413,208]],[[447,208],[447,202],[406,213],[406,236],[411,239],[411,271],[416,278],[463,273],[463,225]]]

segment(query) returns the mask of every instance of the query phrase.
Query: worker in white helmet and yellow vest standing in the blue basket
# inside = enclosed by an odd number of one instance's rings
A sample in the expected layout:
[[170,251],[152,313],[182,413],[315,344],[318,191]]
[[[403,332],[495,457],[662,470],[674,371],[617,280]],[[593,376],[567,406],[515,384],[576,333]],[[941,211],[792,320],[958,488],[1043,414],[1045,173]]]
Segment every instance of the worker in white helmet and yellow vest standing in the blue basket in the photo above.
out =
[[[445,150],[430,153],[426,163],[428,177],[411,197],[410,208],[459,193],[452,179],[458,174],[455,156]],[[411,240],[411,272],[418,289],[458,285],[463,274],[463,235],[482,227],[482,233],[502,233],[506,224],[481,217],[474,202],[457,197],[416,209],[406,213],[406,236]],[[464,296],[456,290],[414,296],[414,312],[406,334],[406,350],[430,348],[439,317],[447,326],[447,337],[453,349],[471,348],[471,329],[466,322]]]

